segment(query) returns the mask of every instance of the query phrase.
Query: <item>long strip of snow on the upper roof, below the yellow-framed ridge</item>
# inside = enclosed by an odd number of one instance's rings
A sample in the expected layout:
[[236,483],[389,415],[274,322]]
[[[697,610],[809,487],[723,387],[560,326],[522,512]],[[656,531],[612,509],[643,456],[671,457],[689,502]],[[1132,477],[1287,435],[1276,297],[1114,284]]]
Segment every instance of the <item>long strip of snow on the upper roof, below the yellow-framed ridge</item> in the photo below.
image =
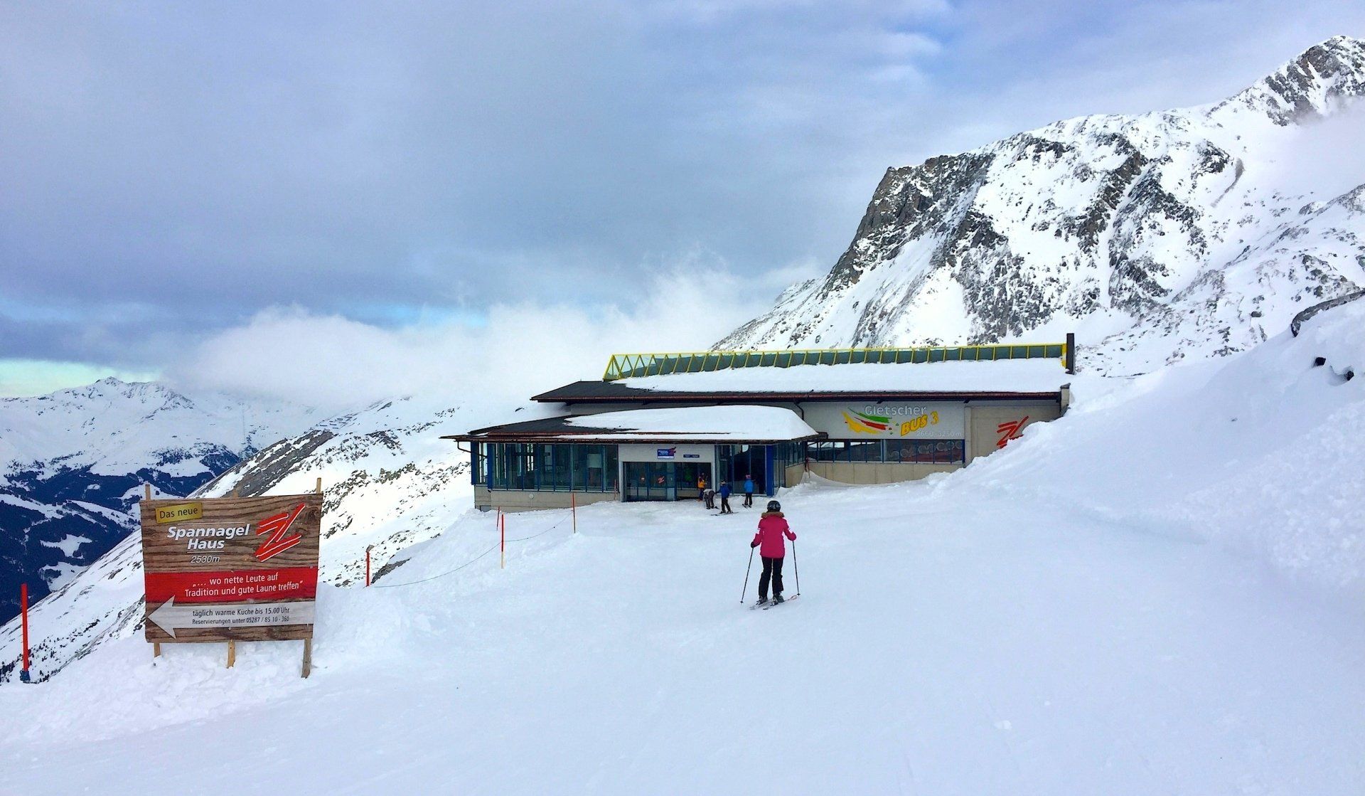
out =
[[1057,359],[917,365],[801,365],[625,378],[667,392],[1057,392],[1072,380]]

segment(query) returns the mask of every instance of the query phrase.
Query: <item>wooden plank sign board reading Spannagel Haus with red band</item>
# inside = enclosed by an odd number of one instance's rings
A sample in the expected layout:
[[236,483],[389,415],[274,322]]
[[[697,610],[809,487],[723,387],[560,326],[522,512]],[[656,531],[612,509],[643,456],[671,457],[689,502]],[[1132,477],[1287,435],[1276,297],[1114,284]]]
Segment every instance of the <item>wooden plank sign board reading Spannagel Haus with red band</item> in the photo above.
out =
[[321,493],[141,508],[149,642],[313,638]]

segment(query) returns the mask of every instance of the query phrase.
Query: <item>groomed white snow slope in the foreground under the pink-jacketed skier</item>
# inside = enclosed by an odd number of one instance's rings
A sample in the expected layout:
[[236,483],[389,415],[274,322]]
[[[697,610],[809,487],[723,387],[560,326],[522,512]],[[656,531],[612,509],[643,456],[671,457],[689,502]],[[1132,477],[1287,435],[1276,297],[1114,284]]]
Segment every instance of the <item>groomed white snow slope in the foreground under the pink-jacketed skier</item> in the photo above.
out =
[[[34,795],[1354,796],[1362,324],[1081,375],[1072,412],[954,474],[789,490],[801,597],[768,612],[737,605],[756,512],[513,515],[506,569],[465,512],[377,587],[321,591],[308,680],[296,643],[229,670],[108,638],[0,685],[0,769]],[[135,610],[108,575],[86,587]],[[262,755],[281,726],[310,751]]]

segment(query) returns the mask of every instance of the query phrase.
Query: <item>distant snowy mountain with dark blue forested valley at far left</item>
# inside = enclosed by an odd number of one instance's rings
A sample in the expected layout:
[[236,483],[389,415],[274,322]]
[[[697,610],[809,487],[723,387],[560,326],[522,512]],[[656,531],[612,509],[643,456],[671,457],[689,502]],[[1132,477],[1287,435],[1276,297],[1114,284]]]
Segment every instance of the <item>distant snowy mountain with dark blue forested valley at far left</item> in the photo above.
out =
[[143,483],[188,494],[314,414],[116,378],[0,399],[0,621],[20,582],[38,599],[132,530]]

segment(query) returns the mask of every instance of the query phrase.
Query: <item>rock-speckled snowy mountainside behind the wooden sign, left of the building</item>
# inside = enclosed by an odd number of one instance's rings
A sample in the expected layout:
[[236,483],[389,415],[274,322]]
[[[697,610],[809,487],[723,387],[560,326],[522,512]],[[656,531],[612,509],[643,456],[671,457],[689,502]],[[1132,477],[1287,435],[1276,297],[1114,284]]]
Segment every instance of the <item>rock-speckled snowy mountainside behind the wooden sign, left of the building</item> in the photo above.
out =
[[[497,410],[400,399],[329,418],[253,453],[203,483],[195,497],[311,492],[322,478],[321,580],[364,578],[373,545],[378,571],[399,550],[430,539],[471,511],[470,457],[442,434],[497,418]],[[543,412],[534,406],[516,416]],[[128,519],[130,528],[136,520]],[[49,677],[142,623],[142,549],[136,534],[72,576],[33,612],[33,670]],[[16,621],[0,629],[0,683],[15,677]]]

